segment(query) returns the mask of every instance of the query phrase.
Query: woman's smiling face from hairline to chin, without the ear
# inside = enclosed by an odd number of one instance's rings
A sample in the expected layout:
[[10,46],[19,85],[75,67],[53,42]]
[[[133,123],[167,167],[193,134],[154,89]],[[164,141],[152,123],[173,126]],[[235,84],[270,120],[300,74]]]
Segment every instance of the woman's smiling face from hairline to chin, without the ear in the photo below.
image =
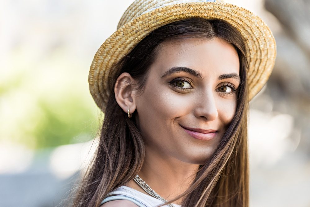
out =
[[238,55],[224,40],[162,43],[136,97],[146,151],[203,164],[235,115],[239,84]]

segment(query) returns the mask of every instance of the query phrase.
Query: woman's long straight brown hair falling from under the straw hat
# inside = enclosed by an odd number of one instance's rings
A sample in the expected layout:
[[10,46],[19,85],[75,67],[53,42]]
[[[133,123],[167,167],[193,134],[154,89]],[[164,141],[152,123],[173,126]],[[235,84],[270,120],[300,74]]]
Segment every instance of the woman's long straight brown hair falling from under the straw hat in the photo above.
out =
[[200,165],[191,186],[178,198],[182,197],[182,207],[249,205],[248,63],[244,40],[234,27],[223,20],[191,18],[154,30],[114,66],[119,73],[110,79],[110,98],[97,151],[75,193],[73,206],[98,207],[107,193],[132,180],[142,167],[145,157],[142,135],[135,114],[132,119],[128,119],[115,100],[114,85],[117,77],[128,72],[138,80],[138,90],[143,91],[149,66],[156,60],[160,43],[214,37],[231,43],[239,56],[241,84],[237,94],[236,114],[211,158]]

